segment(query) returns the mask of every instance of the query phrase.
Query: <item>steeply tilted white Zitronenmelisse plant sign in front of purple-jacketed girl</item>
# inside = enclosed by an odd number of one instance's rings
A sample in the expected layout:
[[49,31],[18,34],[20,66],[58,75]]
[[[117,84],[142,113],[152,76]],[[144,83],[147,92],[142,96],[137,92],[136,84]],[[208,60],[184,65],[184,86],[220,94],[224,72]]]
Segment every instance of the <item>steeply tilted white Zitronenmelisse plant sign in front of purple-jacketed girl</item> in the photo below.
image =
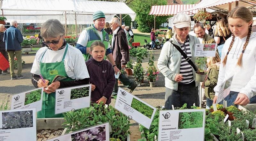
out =
[[149,129],[156,113],[155,107],[120,87],[117,92],[115,108],[147,129]]

